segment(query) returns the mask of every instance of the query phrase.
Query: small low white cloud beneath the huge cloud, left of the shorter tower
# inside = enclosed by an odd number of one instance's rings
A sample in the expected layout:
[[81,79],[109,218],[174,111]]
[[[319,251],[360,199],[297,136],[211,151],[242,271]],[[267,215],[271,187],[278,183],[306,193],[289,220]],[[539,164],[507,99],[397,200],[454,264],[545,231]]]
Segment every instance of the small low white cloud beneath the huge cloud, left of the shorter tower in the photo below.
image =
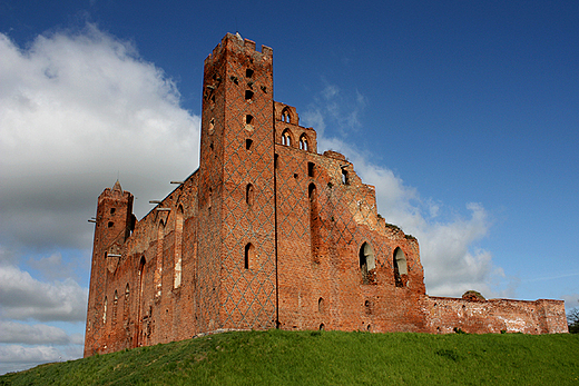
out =
[[42,283],[11,265],[0,265],[0,313],[3,319],[82,321],[87,289],[75,280]]

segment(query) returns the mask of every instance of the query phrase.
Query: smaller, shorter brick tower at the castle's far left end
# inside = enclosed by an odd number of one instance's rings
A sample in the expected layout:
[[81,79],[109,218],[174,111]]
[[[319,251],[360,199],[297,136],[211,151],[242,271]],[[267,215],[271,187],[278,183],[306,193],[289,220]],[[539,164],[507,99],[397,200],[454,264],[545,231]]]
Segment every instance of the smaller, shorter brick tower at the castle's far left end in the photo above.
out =
[[[106,188],[98,197],[90,269],[90,290],[87,310],[86,347],[98,342],[105,334],[107,309],[115,299],[107,297],[107,283],[112,279],[125,240],[130,236],[133,217],[133,195],[122,191],[119,181],[112,189]],[[97,320],[96,318],[100,318]]]

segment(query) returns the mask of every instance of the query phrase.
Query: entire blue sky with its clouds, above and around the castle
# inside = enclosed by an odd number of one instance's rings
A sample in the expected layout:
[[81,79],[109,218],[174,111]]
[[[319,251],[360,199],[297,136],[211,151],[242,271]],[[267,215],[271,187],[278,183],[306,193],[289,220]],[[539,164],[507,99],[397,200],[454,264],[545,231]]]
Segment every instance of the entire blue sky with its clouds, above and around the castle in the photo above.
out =
[[203,60],[275,100],[418,236],[431,295],[579,299],[579,3],[0,0],[0,373],[81,355],[96,199],[198,165]]

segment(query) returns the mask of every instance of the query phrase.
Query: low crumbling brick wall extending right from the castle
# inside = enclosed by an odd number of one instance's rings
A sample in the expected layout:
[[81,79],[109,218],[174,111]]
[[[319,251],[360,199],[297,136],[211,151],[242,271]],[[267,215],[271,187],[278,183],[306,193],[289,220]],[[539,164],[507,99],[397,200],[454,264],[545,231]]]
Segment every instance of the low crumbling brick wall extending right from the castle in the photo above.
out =
[[460,328],[469,334],[568,333],[563,300],[467,300],[425,297],[429,333],[449,334]]

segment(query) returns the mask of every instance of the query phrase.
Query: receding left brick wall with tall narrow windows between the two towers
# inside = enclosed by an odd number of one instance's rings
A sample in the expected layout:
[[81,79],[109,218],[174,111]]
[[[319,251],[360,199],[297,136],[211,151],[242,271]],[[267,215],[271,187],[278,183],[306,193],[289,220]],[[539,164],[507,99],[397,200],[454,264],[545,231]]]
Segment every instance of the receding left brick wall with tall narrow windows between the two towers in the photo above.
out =
[[[91,279],[85,356],[186,339],[197,333],[196,184],[194,175],[158,205],[170,210],[153,209],[138,221],[126,243],[116,245],[120,257],[94,260],[99,274]],[[100,205],[99,210],[105,210],[107,204]],[[179,285],[175,285],[177,256]],[[92,290],[94,285],[100,290]]]

